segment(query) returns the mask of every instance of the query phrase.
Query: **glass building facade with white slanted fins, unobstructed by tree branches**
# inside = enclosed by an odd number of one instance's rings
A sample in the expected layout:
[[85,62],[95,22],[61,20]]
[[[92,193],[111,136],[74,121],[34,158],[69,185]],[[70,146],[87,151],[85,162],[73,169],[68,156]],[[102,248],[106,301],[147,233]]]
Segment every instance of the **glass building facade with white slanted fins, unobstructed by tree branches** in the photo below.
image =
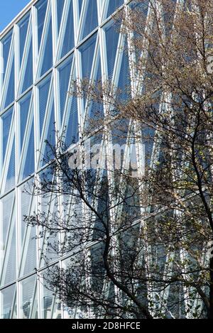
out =
[[[128,83],[126,37],[111,19],[124,2],[35,0],[0,36],[1,319],[69,317],[38,278],[45,272],[45,249],[23,216],[43,203],[24,189],[32,190],[35,175],[45,172],[45,140],[54,144],[56,130],[65,133],[67,146],[77,143],[92,116],[95,106],[88,107],[87,97],[78,102],[67,94],[70,82],[108,77],[121,88]],[[64,265],[66,258],[53,257]]]

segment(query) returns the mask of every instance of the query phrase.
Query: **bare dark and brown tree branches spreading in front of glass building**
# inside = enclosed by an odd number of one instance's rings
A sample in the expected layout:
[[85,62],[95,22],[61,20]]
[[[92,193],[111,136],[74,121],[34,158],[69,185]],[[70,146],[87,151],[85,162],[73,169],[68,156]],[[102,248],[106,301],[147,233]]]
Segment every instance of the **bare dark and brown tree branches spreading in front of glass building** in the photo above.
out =
[[115,20],[133,84],[74,82],[94,113],[76,151],[49,144],[33,192],[48,208],[26,222],[48,264],[69,254],[45,280],[89,317],[213,317],[212,14],[210,0],[132,1]]

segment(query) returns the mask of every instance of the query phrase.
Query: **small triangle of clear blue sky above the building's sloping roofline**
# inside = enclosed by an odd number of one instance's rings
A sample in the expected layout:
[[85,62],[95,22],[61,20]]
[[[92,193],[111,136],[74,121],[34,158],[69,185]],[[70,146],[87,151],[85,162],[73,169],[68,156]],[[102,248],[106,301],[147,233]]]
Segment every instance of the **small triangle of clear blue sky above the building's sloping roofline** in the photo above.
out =
[[0,0],[0,33],[30,0]]

